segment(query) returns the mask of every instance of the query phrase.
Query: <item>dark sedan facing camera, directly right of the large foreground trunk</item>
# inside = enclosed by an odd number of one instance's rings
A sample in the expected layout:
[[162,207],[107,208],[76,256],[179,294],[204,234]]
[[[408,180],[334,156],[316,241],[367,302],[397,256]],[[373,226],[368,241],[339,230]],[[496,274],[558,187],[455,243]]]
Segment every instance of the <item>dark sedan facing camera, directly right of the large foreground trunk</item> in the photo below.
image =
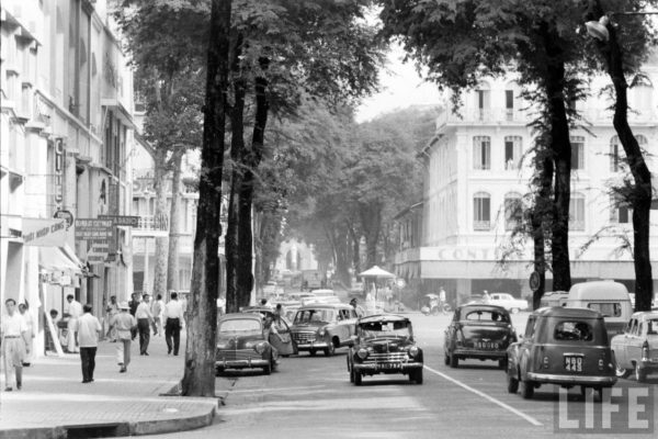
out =
[[227,369],[262,369],[269,375],[276,362],[277,352],[265,339],[259,314],[235,313],[219,317],[215,374]]

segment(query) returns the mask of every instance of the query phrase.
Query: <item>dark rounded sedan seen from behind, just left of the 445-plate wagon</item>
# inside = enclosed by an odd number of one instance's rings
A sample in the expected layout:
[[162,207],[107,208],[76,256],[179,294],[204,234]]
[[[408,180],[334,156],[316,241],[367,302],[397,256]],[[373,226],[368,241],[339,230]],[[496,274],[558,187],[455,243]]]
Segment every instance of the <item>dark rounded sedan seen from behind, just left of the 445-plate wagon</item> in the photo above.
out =
[[445,364],[457,368],[460,360],[475,358],[498,361],[498,365],[504,369],[507,348],[514,341],[517,333],[506,308],[481,303],[462,305],[455,309],[445,329]]

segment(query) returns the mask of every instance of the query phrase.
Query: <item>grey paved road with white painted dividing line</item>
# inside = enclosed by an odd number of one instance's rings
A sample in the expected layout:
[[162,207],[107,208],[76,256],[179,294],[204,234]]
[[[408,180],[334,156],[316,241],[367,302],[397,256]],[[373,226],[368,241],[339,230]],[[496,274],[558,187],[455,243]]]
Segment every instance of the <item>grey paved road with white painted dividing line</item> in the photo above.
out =
[[[262,438],[268,429],[274,429],[275,437],[288,438],[554,437],[558,396],[553,389],[542,387],[533,401],[524,401],[507,393],[504,373],[494,362],[445,367],[441,346],[449,317],[411,317],[426,352],[423,385],[402,375],[384,375],[365,378],[364,385],[356,387],[349,382],[344,349],[331,358],[302,354],[282,359],[279,372],[271,376],[219,378],[218,386],[226,389],[223,380],[235,385],[215,424],[171,438]],[[520,331],[526,317],[523,313],[513,316]],[[621,386],[636,384],[623,380]],[[570,392],[568,401],[570,417],[582,414],[586,404],[577,391]],[[579,437],[564,431],[559,436]]]

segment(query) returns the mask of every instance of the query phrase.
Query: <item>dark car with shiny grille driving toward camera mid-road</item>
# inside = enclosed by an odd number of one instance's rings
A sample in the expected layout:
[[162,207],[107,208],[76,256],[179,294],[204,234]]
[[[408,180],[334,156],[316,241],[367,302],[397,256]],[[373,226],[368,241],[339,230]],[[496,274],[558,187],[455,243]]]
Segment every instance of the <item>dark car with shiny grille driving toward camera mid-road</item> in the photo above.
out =
[[422,384],[423,354],[416,345],[411,320],[399,315],[372,315],[356,323],[354,346],[348,352],[350,382],[364,375],[401,373]]

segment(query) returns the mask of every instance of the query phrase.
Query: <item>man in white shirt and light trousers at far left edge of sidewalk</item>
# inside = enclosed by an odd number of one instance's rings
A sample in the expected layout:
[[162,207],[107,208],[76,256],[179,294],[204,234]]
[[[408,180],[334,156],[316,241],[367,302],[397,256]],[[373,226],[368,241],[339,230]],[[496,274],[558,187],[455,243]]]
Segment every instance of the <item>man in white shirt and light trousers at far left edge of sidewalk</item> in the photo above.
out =
[[12,383],[15,383],[20,391],[23,386],[23,359],[25,352],[30,353],[30,338],[27,338],[27,324],[25,319],[16,313],[16,301],[8,299],[4,301],[7,316],[2,318],[0,325],[0,337],[2,339],[2,359],[4,367],[4,389],[5,392],[12,391]]

